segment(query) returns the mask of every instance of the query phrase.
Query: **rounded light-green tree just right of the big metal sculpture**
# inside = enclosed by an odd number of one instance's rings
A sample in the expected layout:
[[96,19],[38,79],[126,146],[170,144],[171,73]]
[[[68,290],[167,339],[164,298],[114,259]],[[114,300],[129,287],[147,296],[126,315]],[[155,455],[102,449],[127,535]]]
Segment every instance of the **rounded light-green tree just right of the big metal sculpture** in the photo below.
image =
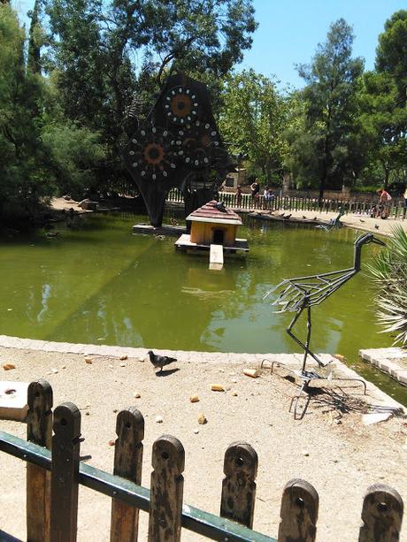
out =
[[287,144],[283,131],[288,102],[273,80],[253,70],[227,77],[221,94],[219,129],[230,149],[246,155],[270,182],[280,171]]

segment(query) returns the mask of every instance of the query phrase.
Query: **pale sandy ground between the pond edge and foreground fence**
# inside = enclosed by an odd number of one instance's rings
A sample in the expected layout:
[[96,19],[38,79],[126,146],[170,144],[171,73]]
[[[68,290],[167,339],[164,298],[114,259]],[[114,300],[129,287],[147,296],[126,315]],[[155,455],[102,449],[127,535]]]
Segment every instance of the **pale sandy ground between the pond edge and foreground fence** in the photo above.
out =
[[[145,354],[145,351],[144,351]],[[177,371],[157,377],[142,356],[120,361],[119,356],[45,352],[0,347],[0,365],[10,381],[45,378],[54,390],[54,405],[73,401],[81,408],[81,455],[88,464],[111,471],[116,411],[135,405],[145,418],[142,485],[150,487],[150,451],[157,437],[166,433],[185,447],[184,501],[219,513],[223,456],[236,440],[249,442],[258,454],[257,503],[254,528],[276,536],[280,498],[288,480],[301,477],[319,492],[319,542],[355,542],[365,490],[387,483],[407,500],[407,420],[394,416],[387,422],[362,424],[357,388],[348,390],[343,402],[348,413],[334,408],[333,397],[311,401],[303,420],[288,413],[296,386],[264,370],[260,378],[242,374],[247,365],[258,364],[258,355],[176,353]],[[264,357],[263,355],[261,356]],[[272,358],[270,358],[272,359]],[[124,365],[124,366],[121,366]],[[58,372],[55,372],[58,370]],[[211,391],[212,384],[225,387]],[[140,393],[139,399],[134,393]],[[233,393],[237,393],[234,395]],[[189,397],[199,396],[191,403]],[[375,402],[369,392],[368,401]],[[197,424],[200,413],[208,419]],[[156,417],[162,416],[158,424]],[[25,438],[26,425],[1,421],[0,429]],[[194,430],[198,429],[196,433]],[[1,454],[0,529],[25,539],[25,465]],[[86,542],[109,540],[111,502],[106,497],[80,490],[79,536]],[[405,523],[405,522],[404,522]],[[141,540],[146,539],[146,515],[142,514]],[[200,540],[182,531],[183,540]],[[402,542],[407,541],[404,525]]]

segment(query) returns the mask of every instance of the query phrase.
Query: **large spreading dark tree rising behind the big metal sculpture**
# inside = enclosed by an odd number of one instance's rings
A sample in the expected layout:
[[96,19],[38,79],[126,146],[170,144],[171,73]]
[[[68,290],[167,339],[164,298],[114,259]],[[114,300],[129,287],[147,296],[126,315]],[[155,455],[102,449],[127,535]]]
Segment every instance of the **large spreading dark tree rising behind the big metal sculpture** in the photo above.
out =
[[[120,157],[123,120],[134,95],[160,87],[170,67],[219,76],[242,59],[256,28],[252,0],[48,0],[65,117],[96,130],[107,149],[109,181],[127,175]],[[137,64],[138,63],[138,64]]]

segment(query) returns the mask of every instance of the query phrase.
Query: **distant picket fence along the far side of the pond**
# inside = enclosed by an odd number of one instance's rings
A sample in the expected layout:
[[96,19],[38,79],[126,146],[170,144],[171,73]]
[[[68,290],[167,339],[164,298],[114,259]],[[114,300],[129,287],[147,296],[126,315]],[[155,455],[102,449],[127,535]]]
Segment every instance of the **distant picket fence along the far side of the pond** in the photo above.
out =
[[[241,198],[234,193],[219,192],[219,200],[225,202],[227,207],[242,210],[311,210],[314,212],[338,212],[342,209],[347,213],[357,213],[370,216],[373,207],[377,204],[377,198],[372,202],[352,202],[340,199],[323,199],[322,207],[319,209],[318,198],[315,197],[296,197],[276,194],[271,199],[265,199],[259,195],[253,199],[251,195],[242,194]],[[183,196],[180,190],[173,188],[167,195],[167,202],[183,202]],[[402,199],[393,199],[389,205],[389,217],[407,218],[407,213]]]

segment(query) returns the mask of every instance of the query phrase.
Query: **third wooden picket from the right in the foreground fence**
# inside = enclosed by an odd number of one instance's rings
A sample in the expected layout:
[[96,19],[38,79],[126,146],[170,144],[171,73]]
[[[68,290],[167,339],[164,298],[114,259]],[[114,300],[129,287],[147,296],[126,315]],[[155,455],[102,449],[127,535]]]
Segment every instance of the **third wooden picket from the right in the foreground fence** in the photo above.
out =
[[245,442],[234,442],[225,453],[220,515],[253,526],[256,500],[257,453]]

